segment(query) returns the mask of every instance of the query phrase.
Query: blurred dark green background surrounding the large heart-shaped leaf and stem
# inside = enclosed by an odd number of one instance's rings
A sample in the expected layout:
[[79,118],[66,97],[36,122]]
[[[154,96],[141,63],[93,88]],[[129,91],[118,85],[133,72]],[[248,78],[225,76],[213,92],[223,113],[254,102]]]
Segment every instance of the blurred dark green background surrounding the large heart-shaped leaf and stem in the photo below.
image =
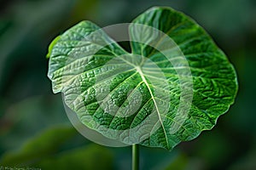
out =
[[[80,20],[130,22],[152,6],[194,18],[235,65],[240,90],[218,125],[171,152],[141,147],[141,169],[256,169],[255,0],[0,0],[0,167],[131,169],[131,148],[84,139],[46,77],[49,42]],[[255,95],[255,96],[254,96]]]

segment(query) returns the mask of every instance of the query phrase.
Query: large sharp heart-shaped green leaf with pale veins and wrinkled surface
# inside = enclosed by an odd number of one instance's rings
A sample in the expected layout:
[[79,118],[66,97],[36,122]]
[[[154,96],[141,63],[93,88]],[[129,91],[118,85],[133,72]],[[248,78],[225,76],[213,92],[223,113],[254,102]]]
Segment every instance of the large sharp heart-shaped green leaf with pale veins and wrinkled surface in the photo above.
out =
[[53,91],[85,126],[124,144],[172,150],[211,129],[234,103],[233,66],[185,14],[150,8],[129,34],[131,53],[82,21],[50,45]]

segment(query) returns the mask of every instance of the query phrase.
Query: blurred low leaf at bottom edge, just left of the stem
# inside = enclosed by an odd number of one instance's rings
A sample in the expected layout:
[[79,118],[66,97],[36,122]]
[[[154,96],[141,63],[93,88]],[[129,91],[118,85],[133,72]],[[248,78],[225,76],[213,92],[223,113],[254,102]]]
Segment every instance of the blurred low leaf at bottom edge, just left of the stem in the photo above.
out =
[[[99,163],[100,161],[100,163]],[[37,167],[41,169],[113,169],[113,153],[106,147],[89,144],[49,157]]]

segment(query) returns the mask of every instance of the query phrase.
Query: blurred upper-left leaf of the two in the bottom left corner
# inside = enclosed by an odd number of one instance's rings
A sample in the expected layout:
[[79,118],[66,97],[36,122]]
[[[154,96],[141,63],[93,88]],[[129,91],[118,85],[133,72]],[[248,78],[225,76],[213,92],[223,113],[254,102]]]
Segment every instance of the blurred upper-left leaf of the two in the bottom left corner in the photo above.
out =
[[38,136],[26,141],[20,150],[6,152],[1,158],[0,164],[5,166],[26,166],[38,162],[54,154],[75,133],[73,127],[67,126],[47,129],[44,133],[40,133]]

